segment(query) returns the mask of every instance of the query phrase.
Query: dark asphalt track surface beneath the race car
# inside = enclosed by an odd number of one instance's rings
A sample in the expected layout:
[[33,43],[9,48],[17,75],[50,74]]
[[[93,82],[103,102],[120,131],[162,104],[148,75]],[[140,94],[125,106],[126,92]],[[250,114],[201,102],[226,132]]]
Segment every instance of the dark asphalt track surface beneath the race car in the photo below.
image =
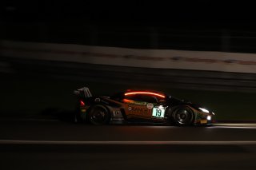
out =
[[255,169],[256,125],[0,120],[0,169]]

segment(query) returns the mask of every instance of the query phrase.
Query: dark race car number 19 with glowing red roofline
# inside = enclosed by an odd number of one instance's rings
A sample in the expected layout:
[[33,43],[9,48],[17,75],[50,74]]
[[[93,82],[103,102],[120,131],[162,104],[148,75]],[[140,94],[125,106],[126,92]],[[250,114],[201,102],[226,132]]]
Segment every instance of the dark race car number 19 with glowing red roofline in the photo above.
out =
[[211,125],[214,113],[190,101],[152,90],[126,90],[112,96],[93,97],[88,87],[74,90],[78,97],[75,122],[93,125],[152,123]]

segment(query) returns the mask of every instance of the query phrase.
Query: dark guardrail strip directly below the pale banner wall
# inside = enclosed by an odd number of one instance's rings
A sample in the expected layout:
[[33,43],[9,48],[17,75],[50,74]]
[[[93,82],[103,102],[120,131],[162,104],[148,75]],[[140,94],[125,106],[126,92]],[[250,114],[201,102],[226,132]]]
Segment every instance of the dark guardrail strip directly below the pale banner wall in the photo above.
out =
[[[186,69],[153,69],[117,65],[94,65],[65,61],[43,61],[1,57],[12,74],[70,81],[98,82],[140,87],[203,89],[256,93],[256,74]],[[0,69],[1,71],[1,69]]]

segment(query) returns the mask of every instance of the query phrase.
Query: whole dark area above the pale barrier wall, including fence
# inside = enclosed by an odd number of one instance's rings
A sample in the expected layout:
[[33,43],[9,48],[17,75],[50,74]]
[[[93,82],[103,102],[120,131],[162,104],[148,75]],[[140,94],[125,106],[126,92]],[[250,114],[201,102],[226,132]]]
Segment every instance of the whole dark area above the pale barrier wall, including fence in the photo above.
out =
[[254,53],[252,2],[4,1],[2,38]]

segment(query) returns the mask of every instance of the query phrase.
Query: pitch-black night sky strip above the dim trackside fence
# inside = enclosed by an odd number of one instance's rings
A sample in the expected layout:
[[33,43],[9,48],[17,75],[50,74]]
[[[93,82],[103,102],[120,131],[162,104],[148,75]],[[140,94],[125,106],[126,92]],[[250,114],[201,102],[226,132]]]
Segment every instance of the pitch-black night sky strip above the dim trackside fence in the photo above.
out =
[[88,22],[153,26],[255,26],[254,5],[218,1],[3,2],[6,21]]

